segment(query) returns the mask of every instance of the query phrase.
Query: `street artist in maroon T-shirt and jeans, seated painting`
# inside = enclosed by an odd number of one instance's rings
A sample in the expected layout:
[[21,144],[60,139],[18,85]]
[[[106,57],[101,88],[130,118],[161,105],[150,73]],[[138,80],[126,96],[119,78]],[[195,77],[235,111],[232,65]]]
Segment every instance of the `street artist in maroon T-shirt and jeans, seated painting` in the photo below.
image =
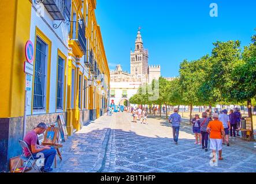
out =
[[[24,141],[28,144],[28,148],[32,152],[34,159],[42,159],[42,157],[40,157],[40,153],[44,155],[44,166],[40,168],[43,173],[49,173],[53,170],[51,165],[53,164],[56,155],[56,150],[54,148],[39,145],[38,135],[42,134],[46,129],[46,124],[41,122],[34,130],[28,132],[24,138]],[[27,148],[24,149],[24,152],[25,156],[30,156]]]

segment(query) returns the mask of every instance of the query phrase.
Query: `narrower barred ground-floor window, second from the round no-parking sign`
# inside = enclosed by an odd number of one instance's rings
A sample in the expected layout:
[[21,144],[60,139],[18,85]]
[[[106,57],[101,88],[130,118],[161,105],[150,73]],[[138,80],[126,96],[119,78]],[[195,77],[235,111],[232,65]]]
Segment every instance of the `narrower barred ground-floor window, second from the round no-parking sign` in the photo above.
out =
[[58,56],[58,76],[57,76],[57,109],[63,110],[64,106],[64,66],[65,60]]

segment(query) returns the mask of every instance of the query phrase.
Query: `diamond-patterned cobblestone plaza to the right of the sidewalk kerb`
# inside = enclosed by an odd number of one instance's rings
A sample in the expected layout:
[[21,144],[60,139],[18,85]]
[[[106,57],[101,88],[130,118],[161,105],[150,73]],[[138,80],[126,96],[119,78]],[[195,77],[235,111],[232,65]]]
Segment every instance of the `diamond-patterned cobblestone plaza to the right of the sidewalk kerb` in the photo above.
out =
[[205,152],[194,144],[188,124],[181,125],[179,145],[172,139],[170,124],[161,118],[149,118],[149,125],[131,122],[131,114],[113,116],[107,156],[103,172],[143,173],[225,173],[256,172],[254,143],[232,139],[231,147],[224,146],[223,158],[217,166],[210,163],[211,151]]

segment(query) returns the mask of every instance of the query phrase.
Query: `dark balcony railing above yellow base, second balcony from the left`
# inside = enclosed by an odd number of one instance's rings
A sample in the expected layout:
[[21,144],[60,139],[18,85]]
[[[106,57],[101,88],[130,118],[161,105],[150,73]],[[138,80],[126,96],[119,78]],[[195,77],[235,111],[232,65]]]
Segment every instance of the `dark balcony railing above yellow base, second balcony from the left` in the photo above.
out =
[[86,55],[86,27],[84,26],[84,21],[80,22],[71,21],[73,25],[72,40],[77,41],[81,51]]

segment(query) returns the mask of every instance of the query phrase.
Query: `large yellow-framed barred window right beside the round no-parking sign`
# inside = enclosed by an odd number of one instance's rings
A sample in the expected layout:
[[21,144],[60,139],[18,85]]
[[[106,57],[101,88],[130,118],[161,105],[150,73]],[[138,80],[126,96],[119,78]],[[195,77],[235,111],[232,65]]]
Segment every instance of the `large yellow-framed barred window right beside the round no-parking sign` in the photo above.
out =
[[47,49],[48,45],[37,36],[33,102],[34,110],[46,109]]

